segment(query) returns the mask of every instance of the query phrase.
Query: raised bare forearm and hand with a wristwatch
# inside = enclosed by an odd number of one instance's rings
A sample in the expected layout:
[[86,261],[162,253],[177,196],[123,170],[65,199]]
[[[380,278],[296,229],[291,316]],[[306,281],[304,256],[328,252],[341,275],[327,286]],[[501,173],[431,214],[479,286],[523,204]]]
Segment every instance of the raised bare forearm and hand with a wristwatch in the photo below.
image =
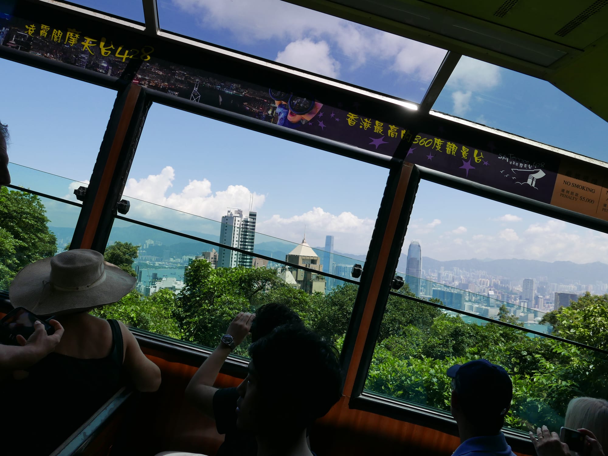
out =
[[[226,334],[232,336],[235,347],[246,338],[254,318],[255,314],[241,312],[230,323]],[[215,419],[215,413],[213,413],[213,395],[217,390],[217,388],[213,387],[213,383],[215,383],[219,369],[221,369],[230,352],[232,352],[232,349],[223,342],[220,342],[216,349],[213,350],[213,353],[209,355],[209,358],[202,363],[192,379],[190,379],[190,383],[188,383],[188,387],[186,388],[186,398],[190,400],[193,406],[213,419]]]

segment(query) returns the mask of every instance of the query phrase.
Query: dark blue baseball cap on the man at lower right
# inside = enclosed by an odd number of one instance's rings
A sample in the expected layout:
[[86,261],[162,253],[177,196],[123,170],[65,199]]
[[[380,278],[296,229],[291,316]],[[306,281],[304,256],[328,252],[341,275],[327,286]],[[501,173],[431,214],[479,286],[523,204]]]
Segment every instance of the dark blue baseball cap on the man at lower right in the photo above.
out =
[[[503,416],[513,400],[513,383],[502,366],[487,359],[475,359],[455,364],[447,369],[447,376],[455,379],[455,391],[471,398],[474,407],[487,415]],[[483,398],[481,401],[479,398]]]

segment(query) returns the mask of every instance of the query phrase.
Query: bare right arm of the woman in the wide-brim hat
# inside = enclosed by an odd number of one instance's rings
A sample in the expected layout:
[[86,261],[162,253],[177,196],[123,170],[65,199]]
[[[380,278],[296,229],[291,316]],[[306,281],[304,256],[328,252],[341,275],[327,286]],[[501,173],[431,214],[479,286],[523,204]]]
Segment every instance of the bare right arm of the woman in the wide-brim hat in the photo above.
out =
[[154,362],[146,358],[137,343],[133,333],[123,322],[120,322],[120,330],[125,343],[125,361],[123,367],[128,373],[131,381],[138,391],[153,392],[161,386],[161,369]]

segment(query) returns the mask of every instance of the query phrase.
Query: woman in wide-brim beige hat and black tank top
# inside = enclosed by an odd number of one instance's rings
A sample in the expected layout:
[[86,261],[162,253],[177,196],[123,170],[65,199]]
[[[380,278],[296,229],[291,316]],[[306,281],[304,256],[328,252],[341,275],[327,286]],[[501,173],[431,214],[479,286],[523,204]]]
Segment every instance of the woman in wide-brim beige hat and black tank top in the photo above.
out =
[[[49,454],[123,384],[148,392],[159,388],[161,371],[143,355],[133,333],[122,322],[89,315],[119,301],[135,285],[135,277],[86,249],[62,252],[19,271],[9,290],[13,307],[54,316],[65,332],[55,352],[28,369],[29,375],[14,381],[14,391],[4,395],[15,402],[3,399],[12,415],[10,429],[4,429],[12,436],[7,440],[27,441],[30,454]],[[46,400],[57,404],[52,415],[32,413],[44,411]],[[32,435],[35,443],[28,437]]]

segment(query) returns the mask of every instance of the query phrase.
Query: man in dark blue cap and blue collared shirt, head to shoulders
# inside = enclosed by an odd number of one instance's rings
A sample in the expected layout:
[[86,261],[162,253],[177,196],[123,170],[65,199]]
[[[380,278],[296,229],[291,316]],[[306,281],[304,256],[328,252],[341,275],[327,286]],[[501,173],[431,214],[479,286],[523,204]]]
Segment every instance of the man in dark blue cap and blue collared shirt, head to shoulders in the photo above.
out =
[[450,410],[460,446],[452,456],[514,456],[500,431],[513,399],[513,383],[503,367],[475,359],[447,369],[452,378]]

